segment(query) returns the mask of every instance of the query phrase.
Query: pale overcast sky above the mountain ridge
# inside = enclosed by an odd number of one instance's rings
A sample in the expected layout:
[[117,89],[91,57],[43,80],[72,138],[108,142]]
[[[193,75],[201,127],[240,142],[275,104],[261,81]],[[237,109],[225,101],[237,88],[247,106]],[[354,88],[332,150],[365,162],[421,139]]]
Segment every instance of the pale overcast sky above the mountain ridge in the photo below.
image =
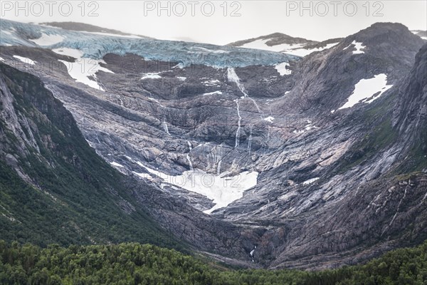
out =
[[16,1],[1,1],[1,18],[35,23],[79,21],[154,38],[215,44],[275,32],[322,41],[348,36],[379,21],[399,22],[411,30],[427,30],[425,0],[369,1],[368,4],[366,0],[304,1],[302,5],[301,1],[253,0],[162,1],[161,4],[85,1],[84,5],[81,1],[36,2],[21,1],[22,9],[18,9]]

